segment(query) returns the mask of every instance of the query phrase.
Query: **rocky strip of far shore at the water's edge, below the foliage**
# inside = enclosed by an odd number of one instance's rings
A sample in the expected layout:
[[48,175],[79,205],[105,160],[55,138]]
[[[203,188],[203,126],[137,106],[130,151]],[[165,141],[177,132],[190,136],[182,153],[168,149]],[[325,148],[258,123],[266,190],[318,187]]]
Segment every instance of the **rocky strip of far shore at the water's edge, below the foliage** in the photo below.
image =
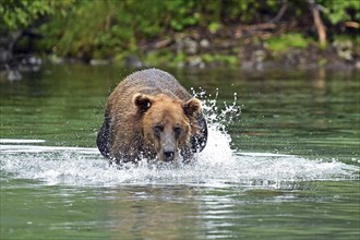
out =
[[245,71],[272,69],[360,69],[359,39],[334,37],[326,48],[315,39],[290,32],[287,26],[256,24],[223,26],[217,31],[189,28],[166,37],[143,39],[135,50],[113,52],[104,58],[59,57],[55,52],[23,52],[2,61],[0,77],[16,81],[22,74],[40,69],[43,62],[77,61],[91,65],[120,64],[130,69],[143,68],[218,68],[233,67]]

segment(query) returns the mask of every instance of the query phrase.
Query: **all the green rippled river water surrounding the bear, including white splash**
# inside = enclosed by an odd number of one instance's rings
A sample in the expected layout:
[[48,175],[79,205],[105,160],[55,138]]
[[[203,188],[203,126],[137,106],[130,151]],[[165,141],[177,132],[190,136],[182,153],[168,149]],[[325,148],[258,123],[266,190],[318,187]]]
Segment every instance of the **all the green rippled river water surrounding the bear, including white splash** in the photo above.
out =
[[106,98],[130,70],[0,82],[0,239],[360,238],[359,71],[167,71],[209,123],[187,166],[119,170],[98,153]]

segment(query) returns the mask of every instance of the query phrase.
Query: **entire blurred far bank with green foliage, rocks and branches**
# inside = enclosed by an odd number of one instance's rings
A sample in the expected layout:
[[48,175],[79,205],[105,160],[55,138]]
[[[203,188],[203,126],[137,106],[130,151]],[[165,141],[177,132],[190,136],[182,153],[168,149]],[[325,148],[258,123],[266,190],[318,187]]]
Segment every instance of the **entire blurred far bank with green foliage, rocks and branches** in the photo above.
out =
[[[15,1],[0,8],[0,71],[41,62],[359,69],[358,1]],[[139,14],[142,13],[142,14]]]

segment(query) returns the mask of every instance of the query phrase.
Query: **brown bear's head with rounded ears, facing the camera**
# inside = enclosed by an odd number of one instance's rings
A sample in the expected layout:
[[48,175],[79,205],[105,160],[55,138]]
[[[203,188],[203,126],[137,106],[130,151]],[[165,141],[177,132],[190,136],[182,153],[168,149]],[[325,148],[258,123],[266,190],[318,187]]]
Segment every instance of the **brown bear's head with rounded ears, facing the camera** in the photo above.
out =
[[196,117],[202,109],[199,99],[136,94],[133,103],[141,119],[145,156],[176,161],[179,154],[185,159],[192,155],[190,137],[199,131]]

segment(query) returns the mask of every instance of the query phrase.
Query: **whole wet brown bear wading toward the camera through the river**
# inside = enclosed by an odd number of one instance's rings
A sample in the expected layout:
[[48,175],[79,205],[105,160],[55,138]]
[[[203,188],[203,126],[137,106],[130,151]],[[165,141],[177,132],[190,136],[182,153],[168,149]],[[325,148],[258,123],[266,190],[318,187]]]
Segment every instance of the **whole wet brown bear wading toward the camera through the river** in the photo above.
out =
[[119,83],[97,135],[97,146],[110,164],[178,161],[179,156],[189,163],[206,141],[201,101],[157,69],[134,72]]

